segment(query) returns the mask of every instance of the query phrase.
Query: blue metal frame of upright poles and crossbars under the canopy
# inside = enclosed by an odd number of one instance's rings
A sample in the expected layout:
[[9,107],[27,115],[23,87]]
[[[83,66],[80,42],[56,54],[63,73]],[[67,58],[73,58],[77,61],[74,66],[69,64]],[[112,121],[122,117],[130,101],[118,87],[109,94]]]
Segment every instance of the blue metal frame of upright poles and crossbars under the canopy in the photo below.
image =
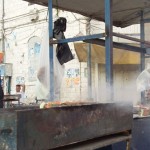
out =
[[[132,38],[126,35],[113,33],[113,18],[112,18],[112,0],[105,0],[105,33],[102,34],[95,34],[89,36],[81,36],[75,38],[68,38],[63,40],[53,40],[53,0],[48,0],[48,10],[49,10],[49,39],[50,39],[50,101],[54,100],[54,64],[53,64],[53,44],[57,43],[68,43],[68,42],[75,42],[75,41],[84,41],[89,43],[95,43],[104,45],[106,47],[106,83],[107,88],[110,91],[109,98],[113,99],[113,46],[125,50],[135,51],[141,53],[141,71],[144,70],[145,66],[145,53],[146,47],[145,45],[150,46],[150,42],[145,41],[144,35],[144,23],[150,21],[150,19],[146,19],[144,21],[143,12],[141,11],[141,39]],[[130,46],[123,43],[113,42],[113,36],[128,39],[131,41],[139,42],[141,47]],[[101,38],[105,37],[105,40],[101,40]],[[90,77],[91,78],[91,77]],[[142,95],[143,97],[143,95]],[[142,98],[143,99],[143,98]]]

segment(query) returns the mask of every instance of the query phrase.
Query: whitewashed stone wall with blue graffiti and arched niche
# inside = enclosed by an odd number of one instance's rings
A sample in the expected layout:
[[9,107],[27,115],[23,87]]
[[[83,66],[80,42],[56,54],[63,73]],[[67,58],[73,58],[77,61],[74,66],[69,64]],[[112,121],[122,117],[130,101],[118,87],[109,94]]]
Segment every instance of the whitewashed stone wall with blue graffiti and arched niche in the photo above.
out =
[[[39,18],[36,22],[31,21],[33,17],[31,10],[33,9],[38,10]],[[2,11],[1,8],[0,11]],[[11,93],[15,93],[15,85],[18,82],[24,81],[27,99],[34,99],[36,96],[35,84],[39,56],[37,50],[43,39],[43,31],[48,24],[47,11],[46,7],[28,5],[27,2],[21,0],[12,0],[11,3],[9,0],[5,0],[5,62],[13,64]],[[78,21],[81,16],[54,10],[54,20],[57,18],[56,13],[61,17],[65,16],[68,20],[66,37],[84,34],[85,21],[82,20],[82,24]],[[36,52],[35,43],[37,44]],[[62,93],[69,91],[69,95],[62,94],[62,99],[67,99],[67,97],[70,99],[70,97],[74,97],[73,95],[76,95],[77,98],[80,97],[80,63],[74,52],[73,44],[69,45],[75,59],[66,64],[65,84],[62,87]],[[72,70],[71,79],[67,75],[69,70]],[[77,75],[73,72],[77,72]]]

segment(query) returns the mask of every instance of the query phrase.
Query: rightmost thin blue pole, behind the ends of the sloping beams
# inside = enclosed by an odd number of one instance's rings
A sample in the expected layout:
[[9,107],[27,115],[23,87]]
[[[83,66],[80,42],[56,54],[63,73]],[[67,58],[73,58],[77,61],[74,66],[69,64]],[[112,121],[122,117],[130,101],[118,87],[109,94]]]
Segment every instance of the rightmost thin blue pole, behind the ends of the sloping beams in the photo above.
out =
[[[140,37],[141,40],[145,40],[145,28],[144,28],[144,14],[143,11],[141,11],[141,21],[140,21]],[[144,48],[144,44],[141,43],[141,47]],[[145,69],[145,53],[141,52],[141,71]],[[141,103],[145,103],[145,93],[141,92]]]

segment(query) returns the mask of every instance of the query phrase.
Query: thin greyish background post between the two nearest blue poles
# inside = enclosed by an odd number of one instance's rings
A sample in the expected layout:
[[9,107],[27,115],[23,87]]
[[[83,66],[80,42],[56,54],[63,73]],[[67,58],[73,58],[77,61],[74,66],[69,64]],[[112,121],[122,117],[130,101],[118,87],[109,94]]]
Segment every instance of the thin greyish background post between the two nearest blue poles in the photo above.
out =
[[[86,33],[90,34],[90,19],[87,19],[86,24]],[[88,98],[89,100],[92,99],[92,69],[91,69],[91,44],[88,44],[87,47],[87,69],[88,69]]]

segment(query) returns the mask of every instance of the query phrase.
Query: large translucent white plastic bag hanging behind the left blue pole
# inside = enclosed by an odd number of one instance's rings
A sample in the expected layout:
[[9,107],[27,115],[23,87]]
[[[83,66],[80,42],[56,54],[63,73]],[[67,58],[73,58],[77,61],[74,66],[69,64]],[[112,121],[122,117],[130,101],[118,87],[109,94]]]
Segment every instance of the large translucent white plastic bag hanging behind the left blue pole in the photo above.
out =
[[[37,99],[50,98],[50,65],[49,65],[49,35],[48,29],[44,32],[41,44],[39,68],[37,70]],[[64,76],[64,65],[58,62],[56,57],[56,45],[53,45],[54,58],[54,100],[60,99],[60,88]]]

